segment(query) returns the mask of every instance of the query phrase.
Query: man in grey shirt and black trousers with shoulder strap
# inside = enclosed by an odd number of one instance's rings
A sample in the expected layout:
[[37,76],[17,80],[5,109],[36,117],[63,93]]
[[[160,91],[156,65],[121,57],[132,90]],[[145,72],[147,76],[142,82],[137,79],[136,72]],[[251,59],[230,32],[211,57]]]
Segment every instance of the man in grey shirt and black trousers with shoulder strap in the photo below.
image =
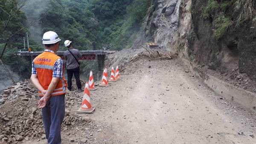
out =
[[83,92],[81,89],[81,81],[79,78],[80,73],[80,63],[79,58],[82,57],[81,52],[79,52],[78,49],[73,48],[73,43],[70,40],[65,40],[64,42],[65,46],[68,48],[64,52],[64,59],[67,60],[67,89],[72,91],[72,78],[73,74],[76,78],[76,86],[78,88],[78,92]]

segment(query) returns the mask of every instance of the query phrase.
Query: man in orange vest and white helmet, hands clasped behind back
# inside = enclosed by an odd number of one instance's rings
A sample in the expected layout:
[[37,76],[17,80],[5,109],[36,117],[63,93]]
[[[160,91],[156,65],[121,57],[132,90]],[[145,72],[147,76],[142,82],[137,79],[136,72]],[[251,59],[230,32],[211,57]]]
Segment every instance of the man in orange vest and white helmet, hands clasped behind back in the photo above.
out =
[[61,39],[55,32],[44,33],[45,50],[32,62],[31,81],[38,88],[42,109],[44,130],[48,144],[61,144],[61,124],[65,115],[65,93],[67,83],[64,78],[64,64],[55,54]]

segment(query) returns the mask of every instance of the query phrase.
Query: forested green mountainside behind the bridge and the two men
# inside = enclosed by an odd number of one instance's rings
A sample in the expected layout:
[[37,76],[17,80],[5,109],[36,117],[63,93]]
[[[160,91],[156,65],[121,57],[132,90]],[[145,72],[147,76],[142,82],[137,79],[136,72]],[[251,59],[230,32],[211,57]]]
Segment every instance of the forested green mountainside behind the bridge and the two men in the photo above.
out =
[[[19,9],[22,2],[0,1],[0,51],[3,50],[9,35],[32,22],[27,21],[25,13]],[[141,29],[148,9],[152,6],[151,0],[45,0],[43,3],[46,6],[42,8],[38,6],[38,0],[28,1],[29,9],[35,8],[31,11],[35,13],[33,16],[41,17],[36,25],[38,27],[33,28],[39,32],[34,38],[38,41],[30,37],[32,51],[44,49],[40,37],[49,30],[57,32],[62,39],[60,50],[66,50],[63,46],[66,39],[72,40],[79,50],[101,49],[102,45],[110,45],[112,50],[130,47]],[[41,13],[36,15],[39,11]],[[9,14],[13,15],[7,24]],[[23,29],[7,42],[2,59],[13,71],[30,75],[30,60],[16,55],[18,49],[24,47],[23,37],[26,37],[26,32],[28,30]],[[92,64],[83,62],[82,66],[87,70],[83,69],[82,73],[87,74],[90,69],[96,70],[96,62],[93,61]]]

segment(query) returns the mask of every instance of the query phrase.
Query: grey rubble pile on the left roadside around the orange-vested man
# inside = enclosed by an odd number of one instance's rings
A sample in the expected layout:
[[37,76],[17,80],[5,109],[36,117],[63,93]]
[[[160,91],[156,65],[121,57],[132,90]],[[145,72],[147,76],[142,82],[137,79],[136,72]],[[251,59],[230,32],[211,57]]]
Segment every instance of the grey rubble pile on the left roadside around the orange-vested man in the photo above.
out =
[[[99,125],[90,118],[76,115],[81,104],[81,96],[77,92],[65,96],[66,109],[62,124],[62,132],[67,135],[84,133],[88,141],[93,141],[92,133],[99,130]],[[45,139],[41,109],[38,109],[37,89],[30,81],[9,86],[0,92],[0,143],[17,144],[20,141],[41,141]],[[84,135],[76,135],[73,141],[80,141]]]

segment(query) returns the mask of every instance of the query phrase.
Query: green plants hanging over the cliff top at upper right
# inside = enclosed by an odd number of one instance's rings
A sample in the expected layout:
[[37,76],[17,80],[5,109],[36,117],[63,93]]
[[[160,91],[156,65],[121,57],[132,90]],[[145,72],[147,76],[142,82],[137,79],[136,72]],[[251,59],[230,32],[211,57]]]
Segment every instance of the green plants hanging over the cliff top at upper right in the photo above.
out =
[[221,39],[229,29],[238,29],[243,23],[256,24],[253,0],[207,0],[201,7],[201,17],[212,20],[213,35]]

